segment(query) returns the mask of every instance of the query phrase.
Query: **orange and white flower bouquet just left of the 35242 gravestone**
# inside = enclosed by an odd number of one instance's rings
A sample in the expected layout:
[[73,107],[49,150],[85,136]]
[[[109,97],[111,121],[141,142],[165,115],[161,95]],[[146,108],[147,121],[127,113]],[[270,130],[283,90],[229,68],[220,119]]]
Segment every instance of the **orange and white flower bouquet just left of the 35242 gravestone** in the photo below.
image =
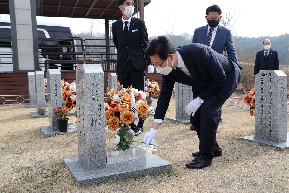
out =
[[70,111],[73,107],[76,107],[76,84],[75,81],[72,83],[61,80],[62,87],[62,101],[64,106]]

